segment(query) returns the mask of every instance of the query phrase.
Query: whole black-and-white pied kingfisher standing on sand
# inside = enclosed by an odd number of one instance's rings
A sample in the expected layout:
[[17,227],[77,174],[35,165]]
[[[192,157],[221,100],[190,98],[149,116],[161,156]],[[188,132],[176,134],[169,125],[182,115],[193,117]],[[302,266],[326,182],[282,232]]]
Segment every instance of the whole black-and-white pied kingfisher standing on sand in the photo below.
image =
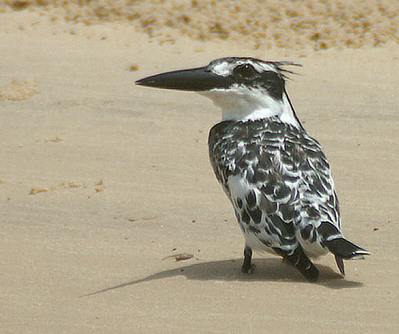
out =
[[221,109],[209,131],[209,160],[244,235],[241,271],[253,272],[253,251],[273,253],[316,282],[311,259],[332,253],[344,277],[343,260],[370,252],[342,233],[330,165],[286,91],[292,66],[300,64],[225,57],[135,83],[197,92]]

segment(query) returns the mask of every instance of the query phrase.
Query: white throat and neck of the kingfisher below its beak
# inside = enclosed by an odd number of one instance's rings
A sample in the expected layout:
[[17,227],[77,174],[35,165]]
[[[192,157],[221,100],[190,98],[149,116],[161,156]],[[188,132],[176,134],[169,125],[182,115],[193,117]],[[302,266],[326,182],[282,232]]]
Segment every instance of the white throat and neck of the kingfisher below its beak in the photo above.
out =
[[282,100],[272,98],[266,91],[242,86],[211,89],[199,94],[221,109],[223,121],[255,121],[278,116],[281,122],[300,128],[285,92]]

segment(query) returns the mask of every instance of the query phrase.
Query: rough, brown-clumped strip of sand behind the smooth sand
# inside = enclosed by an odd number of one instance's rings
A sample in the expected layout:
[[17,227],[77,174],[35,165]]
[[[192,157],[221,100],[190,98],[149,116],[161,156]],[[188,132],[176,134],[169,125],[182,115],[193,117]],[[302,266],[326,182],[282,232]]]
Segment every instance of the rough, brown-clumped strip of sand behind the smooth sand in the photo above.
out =
[[130,22],[161,41],[183,34],[255,48],[377,46],[399,39],[397,0],[0,0],[0,10],[30,9],[50,21]]

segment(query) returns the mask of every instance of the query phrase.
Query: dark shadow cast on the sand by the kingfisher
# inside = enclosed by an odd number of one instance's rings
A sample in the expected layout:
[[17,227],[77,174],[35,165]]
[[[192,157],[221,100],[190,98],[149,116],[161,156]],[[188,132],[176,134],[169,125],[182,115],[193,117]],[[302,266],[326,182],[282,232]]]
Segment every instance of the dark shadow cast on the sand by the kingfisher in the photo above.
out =
[[[252,263],[255,270],[251,274],[241,272],[241,259],[221,260],[202,262],[183,266],[176,269],[161,271],[144,278],[121,283],[106,289],[91,292],[81,297],[96,295],[99,293],[125,288],[144,282],[165,279],[175,276],[185,276],[189,280],[216,280],[216,281],[242,281],[242,282],[303,282],[307,281],[289,264],[281,263],[281,259],[267,258],[254,259]],[[316,283],[330,289],[359,288],[363,283],[347,281],[340,274],[334,272],[331,268],[323,265],[317,265],[320,272]]]

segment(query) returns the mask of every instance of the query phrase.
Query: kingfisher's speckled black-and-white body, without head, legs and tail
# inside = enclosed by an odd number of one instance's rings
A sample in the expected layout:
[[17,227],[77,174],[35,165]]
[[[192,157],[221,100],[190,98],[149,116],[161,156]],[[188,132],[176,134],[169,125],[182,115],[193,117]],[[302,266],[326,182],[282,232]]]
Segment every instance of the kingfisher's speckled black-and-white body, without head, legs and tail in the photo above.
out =
[[[329,164],[304,130],[278,119],[224,121],[208,145],[247,246],[290,255],[300,245],[319,256],[343,239]],[[344,253],[338,256],[350,257]]]

